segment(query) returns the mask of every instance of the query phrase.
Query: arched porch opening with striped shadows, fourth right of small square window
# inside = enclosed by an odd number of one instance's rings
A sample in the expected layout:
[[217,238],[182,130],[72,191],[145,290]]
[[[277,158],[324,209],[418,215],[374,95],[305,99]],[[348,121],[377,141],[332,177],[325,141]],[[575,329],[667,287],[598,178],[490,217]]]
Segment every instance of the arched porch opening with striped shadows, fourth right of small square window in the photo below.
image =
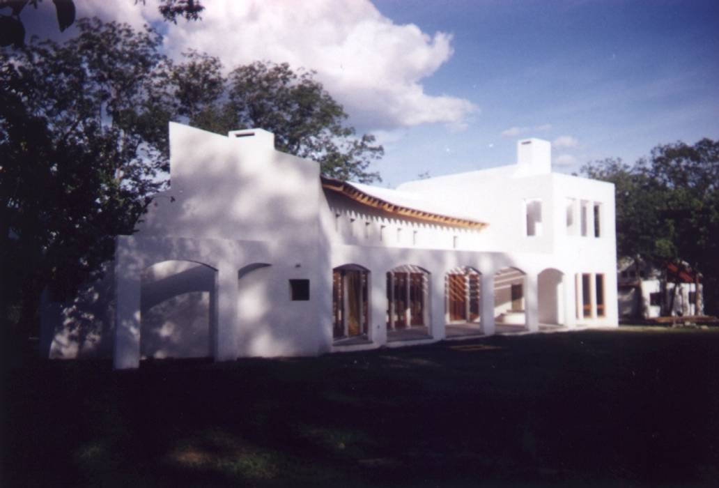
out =
[[526,274],[518,268],[503,268],[495,274],[495,324],[497,332],[525,330]]

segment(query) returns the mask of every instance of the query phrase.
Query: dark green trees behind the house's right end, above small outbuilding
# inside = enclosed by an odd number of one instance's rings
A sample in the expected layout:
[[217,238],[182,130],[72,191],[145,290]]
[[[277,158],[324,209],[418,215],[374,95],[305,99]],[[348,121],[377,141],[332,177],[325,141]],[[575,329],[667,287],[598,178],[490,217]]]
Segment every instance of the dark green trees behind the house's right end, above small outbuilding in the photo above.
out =
[[719,141],[658,145],[634,166],[589,163],[616,186],[619,256],[660,266],[687,261],[704,276],[705,308],[719,307]]

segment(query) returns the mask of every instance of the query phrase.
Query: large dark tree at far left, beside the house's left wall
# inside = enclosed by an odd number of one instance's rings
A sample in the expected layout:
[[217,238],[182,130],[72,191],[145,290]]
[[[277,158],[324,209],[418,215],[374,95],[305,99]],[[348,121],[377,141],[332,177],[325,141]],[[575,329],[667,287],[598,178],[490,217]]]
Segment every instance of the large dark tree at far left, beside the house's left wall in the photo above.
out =
[[22,302],[26,325],[45,286],[68,297],[112,256],[168,169],[161,37],[98,19],[78,30],[0,50],[0,312]]

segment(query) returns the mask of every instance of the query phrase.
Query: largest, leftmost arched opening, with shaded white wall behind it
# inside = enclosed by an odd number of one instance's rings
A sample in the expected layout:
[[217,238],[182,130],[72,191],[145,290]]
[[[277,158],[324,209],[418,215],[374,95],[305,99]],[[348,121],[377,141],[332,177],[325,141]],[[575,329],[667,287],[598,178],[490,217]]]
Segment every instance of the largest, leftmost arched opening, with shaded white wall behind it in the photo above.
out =
[[212,356],[216,269],[194,261],[162,261],[142,271],[140,356]]

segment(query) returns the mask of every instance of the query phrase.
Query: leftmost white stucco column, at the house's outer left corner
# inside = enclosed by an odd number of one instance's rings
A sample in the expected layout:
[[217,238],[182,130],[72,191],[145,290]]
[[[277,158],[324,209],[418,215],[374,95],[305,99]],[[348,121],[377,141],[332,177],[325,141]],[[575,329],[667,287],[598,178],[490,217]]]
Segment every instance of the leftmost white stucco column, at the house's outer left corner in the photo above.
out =
[[139,367],[141,265],[130,250],[129,238],[115,240],[115,369]]

